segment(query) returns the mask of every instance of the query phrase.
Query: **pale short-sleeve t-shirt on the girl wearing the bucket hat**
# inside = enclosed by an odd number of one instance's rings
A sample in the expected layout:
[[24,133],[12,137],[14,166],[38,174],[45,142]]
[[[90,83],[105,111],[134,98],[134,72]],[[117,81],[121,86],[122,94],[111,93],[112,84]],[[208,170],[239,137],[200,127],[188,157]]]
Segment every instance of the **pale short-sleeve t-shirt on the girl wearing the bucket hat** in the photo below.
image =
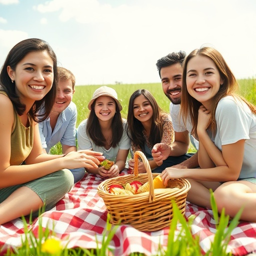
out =
[[116,157],[119,149],[129,149],[130,139],[126,133],[126,119],[123,120],[123,133],[121,140],[115,147],[105,149],[103,146],[97,146],[90,137],[86,134],[87,119],[83,120],[77,129],[77,144],[79,149],[92,149],[93,151],[102,152],[105,157]]

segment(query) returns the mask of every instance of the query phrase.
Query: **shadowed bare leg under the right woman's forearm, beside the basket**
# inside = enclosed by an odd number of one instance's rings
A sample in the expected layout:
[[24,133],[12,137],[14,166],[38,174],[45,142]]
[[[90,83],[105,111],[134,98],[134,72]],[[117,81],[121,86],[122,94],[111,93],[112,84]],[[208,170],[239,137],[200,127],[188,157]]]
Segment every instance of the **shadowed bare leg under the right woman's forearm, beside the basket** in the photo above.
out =
[[187,180],[190,182],[191,188],[187,193],[186,200],[205,208],[211,208],[209,189],[211,188],[214,191],[220,185],[220,183],[195,179]]

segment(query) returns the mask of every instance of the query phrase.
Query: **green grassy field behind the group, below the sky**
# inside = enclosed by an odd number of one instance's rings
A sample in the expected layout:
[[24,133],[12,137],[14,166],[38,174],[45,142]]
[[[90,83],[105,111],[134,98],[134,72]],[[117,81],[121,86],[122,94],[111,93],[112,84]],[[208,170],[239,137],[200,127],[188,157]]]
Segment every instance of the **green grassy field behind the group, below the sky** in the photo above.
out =
[[[238,80],[240,91],[239,94],[244,96],[251,103],[256,105],[256,79],[240,79]],[[117,96],[122,105],[121,115],[126,118],[128,110],[128,102],[130,95],[136,89],[149,90],[156,99],[159,106],[165,111],[169,112],[169,99],[164,95],[161,87],[161,83],[141,83],[141,84],[104,84],[105,86],[114,88],[117,92]],[[89,109],[87,104],[92,97],[95,89],[102,85],[76,85],[75,92],[73,94],[73,102],[77,107],[77,121],[76,127],[79,123],[88,117]]]

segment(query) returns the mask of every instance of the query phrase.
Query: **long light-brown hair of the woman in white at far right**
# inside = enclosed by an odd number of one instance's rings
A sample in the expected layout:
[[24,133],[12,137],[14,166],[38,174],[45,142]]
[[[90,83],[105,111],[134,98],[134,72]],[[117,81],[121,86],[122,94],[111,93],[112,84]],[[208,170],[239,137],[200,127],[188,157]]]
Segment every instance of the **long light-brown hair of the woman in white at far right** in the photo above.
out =
[[218,72],[220,74],[220,78],[223,80],[223,84],[220,85],[218,92],[213,97],[213,107],[211,111],[211,118],[209,129],[214,133],[216,131],[215,125],[215,112],[218,101],[225,97],[226,95],[233,95],[239,100],[243,100],[250,110],[256,114],[256,108],[253,104],[247,101],[245,98],[237,94],[239,89],[238,83],[231,72],[230,68],[226,64],[222,55],[212,47],[202,47],[200,49],[195,49],[191,51],[183,62],[183,72],[182,72],[182,89],[181,89],[181,116],[184,121],[189,118],[192,122],[192,131],[191,133],[196,133],[196,126],[198,121],[198,109],[201,103],[193,98],[187,91],[186,88],[186,72],[187,72],[187,63],[194,56],[206,56],[210,58],[216,65]]

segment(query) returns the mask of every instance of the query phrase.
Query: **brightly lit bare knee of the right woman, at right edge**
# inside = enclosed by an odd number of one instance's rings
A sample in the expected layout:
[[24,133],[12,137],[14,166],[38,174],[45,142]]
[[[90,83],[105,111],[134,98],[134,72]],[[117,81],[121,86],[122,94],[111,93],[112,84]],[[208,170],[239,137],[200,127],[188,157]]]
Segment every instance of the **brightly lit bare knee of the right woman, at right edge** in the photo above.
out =
[[218,211],[225,208],[225,214],[234,217],[243,208],[242,220],[256,222],[256,184],[249,181],[229,181],[214,192]]

